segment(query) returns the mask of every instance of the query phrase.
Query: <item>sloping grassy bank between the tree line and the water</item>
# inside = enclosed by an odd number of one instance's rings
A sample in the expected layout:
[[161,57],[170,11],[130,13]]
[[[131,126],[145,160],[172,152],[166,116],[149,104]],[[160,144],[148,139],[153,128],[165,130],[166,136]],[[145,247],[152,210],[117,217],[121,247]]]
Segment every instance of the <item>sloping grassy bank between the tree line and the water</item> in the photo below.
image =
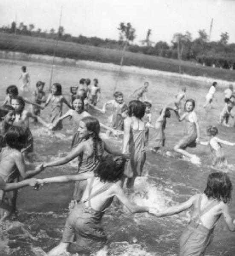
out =
[[[55,41],[31,36],[0,33],[0,49],[5,51],[17,51],[29,54],[53,55]],[[75,44],[58,41],[56,56],[73,58],[76,60],[90,60],[104,63],[119,64],[122,51],[93,47],[83,44]],[[154,70],[179,73],[179,64],[185,74],[191,76],[205,76],[215,79],[234,81],[235,71],[212,67],[203,67],[189,61],[177,61],[175,59],[125,52],[123,65],[144,67]]]

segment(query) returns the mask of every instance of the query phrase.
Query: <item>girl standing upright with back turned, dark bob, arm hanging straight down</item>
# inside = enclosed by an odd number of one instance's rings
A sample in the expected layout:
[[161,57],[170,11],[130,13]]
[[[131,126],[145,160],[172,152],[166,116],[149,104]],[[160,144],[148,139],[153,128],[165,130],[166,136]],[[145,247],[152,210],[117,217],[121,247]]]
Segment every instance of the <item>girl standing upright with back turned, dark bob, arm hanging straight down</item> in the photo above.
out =
[[130,152],[130,165],[126,171],[128,177],[126,186],[133,188],[137,176],[142,175],[146,160],[145,152],[145,105],[139,100],[132,100],[128,106],[128,117],[124,120],[124,137],[122,153]]

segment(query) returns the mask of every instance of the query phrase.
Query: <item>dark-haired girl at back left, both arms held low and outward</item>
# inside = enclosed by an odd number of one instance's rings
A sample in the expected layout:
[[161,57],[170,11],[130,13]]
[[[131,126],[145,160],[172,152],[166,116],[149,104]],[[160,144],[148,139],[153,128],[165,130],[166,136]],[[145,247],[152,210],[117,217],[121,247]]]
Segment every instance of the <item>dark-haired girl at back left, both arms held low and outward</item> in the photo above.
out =
[[[50,114],[50,122],[53,123],[56,119],[62,116],[62,105],[65,103],[69,108],[70,103],[67,102],[67,99],[62,95],[62,86],[61,84],[55,83],[52,84],[52,93],[50,93],[46,99],[45,107],[51,102],[51,114]],[[63,128],[61,120],[57,123],[57,125],[53,128],[53,131],[58,131]]]

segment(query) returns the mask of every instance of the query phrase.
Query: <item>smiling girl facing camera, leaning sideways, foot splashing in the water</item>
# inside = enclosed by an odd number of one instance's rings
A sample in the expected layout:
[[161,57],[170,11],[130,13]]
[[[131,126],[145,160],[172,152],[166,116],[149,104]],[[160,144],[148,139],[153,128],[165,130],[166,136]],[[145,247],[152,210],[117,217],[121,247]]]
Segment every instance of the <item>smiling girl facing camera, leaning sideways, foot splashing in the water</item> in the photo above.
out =
[[174,151],[189,157],[192,162],[199,162],[199,159],[196,157],[196,155],[190,154],[185,150],[187,147],[195,148],[196,143],[200,138],[200,130],[194,108],[194,100],[187,99],[184,105],[184,110],[186,112],[179,118],[180,122],[185,120],[186,131],[184,137],[177,143],[177,145],[174,146]]

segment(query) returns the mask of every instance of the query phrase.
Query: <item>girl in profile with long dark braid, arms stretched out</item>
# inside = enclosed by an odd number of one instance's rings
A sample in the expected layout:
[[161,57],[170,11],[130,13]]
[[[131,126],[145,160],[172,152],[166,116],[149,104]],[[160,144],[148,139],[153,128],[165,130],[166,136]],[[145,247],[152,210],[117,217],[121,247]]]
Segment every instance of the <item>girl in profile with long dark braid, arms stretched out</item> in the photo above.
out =
[[[110,154],[128,158],[127,154],[122,154],[121,152],[114,150],[100,139],[100,125],[98,119],[95,117],[86,116],[82,118],[79,122],[78,132],[81,142],[73,148],[67,156],[49,163],[44,163],[44,168],[60,166],[69,163],[75,157],[78,157],[79,173],[94,172],[102,160],[104,150]],[[80,201],[86,184],[86,181],[77,181],[75,183],[73,194],[75,201]]]

